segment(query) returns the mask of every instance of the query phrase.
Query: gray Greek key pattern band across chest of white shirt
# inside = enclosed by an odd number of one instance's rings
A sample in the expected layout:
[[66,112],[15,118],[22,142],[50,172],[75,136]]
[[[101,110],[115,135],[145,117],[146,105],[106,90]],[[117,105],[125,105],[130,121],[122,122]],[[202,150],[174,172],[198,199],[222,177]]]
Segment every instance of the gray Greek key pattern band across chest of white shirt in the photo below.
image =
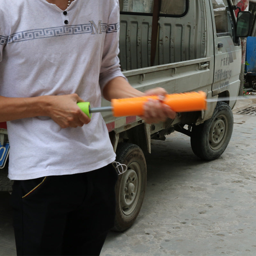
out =
[[[113,33],[119,30],[119,23],[106,24],[101,23],[101,32],[103,33]],[[34,40],[39,38],[54,37],[54,36],[67,36],[67,35],[77,35],[84,33],[95,34],[95,28],[92,28],[92,24],[81,24],[81,25],[71,25],[71,26],[61,26],[53,28],[39,28],[31,29],[26,31],[21,31],[14,33],[10,36],[0,35],[0,44],[11,44],[20,41]]]

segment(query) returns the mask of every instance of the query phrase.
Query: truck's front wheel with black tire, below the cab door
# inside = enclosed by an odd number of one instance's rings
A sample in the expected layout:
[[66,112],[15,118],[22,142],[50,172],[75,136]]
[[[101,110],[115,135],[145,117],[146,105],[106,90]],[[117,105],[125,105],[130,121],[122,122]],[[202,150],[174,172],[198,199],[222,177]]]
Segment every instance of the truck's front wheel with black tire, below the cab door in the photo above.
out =
[[190,143],[194,154],[204,160],[218,158],[227,148],[233,132],[233,113],[225,102],[217,102],[213,115],[193,125]]

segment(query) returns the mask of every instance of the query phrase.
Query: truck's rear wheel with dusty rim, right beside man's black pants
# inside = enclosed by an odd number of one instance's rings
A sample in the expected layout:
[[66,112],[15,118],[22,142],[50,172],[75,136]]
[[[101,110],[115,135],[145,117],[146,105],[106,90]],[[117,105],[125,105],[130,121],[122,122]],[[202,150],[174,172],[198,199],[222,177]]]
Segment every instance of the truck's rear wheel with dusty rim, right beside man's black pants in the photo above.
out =
[[116,182],[116,219],[114,230],[124,231],[136,220],[147,185],[147,165],[139,146],[119,143],[116,162],[127,165],[127,171]]

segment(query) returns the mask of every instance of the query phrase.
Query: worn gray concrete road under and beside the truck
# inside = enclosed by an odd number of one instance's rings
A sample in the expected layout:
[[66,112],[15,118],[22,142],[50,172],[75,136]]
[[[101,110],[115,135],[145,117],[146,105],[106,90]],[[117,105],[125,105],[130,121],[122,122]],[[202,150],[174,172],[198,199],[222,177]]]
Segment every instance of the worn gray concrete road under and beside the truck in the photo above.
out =
[[[250,105],[249,105],[250,104]],[[101,256],[256,255],[256,101],[239,101],[223,155],[194,156],[189,137],[173,133],[147,155],[148,184],[136,223],[111,232]],[[0,255],[14,255],[9,195],[0,193]]]

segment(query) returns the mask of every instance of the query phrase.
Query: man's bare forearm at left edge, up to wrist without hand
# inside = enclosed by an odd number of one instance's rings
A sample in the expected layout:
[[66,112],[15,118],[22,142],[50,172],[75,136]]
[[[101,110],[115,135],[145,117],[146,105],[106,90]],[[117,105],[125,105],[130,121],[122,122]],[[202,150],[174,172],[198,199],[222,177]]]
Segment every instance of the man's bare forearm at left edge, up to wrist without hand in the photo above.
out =
[[48,97],[7,98],[0,96],[0,122],[47,116]]

